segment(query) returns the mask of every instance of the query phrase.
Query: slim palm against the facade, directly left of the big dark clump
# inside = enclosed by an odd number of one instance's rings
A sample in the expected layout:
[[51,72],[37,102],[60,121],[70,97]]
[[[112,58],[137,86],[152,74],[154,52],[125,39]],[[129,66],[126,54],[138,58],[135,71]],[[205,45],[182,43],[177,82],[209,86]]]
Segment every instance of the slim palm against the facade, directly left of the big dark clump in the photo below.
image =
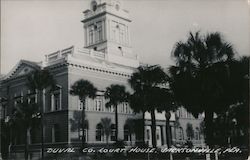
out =
[[125,86],[118,85],[118,84],[112,84],[109,87],[106,88],[106,91],[104,93],[105,99],[108,99],[108,102],[106,103],[106,107],[113,106],[115,109],[115,140],[118,140],[118,105],[127,102],[129,93],[126,92]]

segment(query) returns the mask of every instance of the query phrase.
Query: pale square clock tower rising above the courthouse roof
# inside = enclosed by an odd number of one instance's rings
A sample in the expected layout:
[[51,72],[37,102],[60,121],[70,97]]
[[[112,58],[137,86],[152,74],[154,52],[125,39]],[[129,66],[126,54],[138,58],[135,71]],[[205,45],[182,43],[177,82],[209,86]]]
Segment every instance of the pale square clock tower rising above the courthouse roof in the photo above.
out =
[[120,0],[91,0],[83,13],[85,48],[103,52],[110,61],[137,59],[131,49],[131,20]]

